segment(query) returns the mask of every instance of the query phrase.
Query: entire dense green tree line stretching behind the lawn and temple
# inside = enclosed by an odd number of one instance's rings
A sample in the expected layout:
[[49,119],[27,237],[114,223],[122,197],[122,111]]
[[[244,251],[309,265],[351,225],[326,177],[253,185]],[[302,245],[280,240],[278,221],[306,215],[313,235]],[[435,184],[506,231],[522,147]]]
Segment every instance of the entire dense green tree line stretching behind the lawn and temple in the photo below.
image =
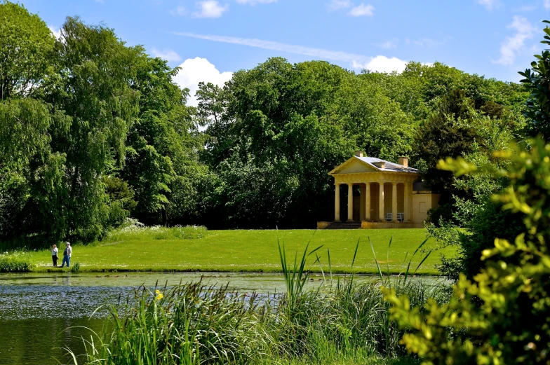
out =
[[497,164],[492,152],[525,132],[525,87],[440,63],[357,74],[271,58],[201,84],[197,108],[177,71],[113,29],[67,18],[55,39],[0,4],[0,240],[90,242],[128,216],[311,228],[333,218],[327,173],[356,149],[410,156],[443,193],[432,220],[457,223],[499,184],[455,179],[437,161]]

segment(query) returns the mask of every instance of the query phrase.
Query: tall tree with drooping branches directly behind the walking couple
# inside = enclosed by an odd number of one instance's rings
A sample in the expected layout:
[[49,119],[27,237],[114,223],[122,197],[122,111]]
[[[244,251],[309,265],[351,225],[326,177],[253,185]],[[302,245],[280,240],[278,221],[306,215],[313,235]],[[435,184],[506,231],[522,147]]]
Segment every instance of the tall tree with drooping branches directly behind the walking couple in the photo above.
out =
[[101,237],[113,220],[102,177],[123,165],[138,110],[139,94],[130,83],[142,53],[112,29],[78,18],[67,18],[56,42],[59,77],[46,85],[46,101],[70,121],[67,129],[53,126],[51,146],[66,156],[62,226],[76,240]]

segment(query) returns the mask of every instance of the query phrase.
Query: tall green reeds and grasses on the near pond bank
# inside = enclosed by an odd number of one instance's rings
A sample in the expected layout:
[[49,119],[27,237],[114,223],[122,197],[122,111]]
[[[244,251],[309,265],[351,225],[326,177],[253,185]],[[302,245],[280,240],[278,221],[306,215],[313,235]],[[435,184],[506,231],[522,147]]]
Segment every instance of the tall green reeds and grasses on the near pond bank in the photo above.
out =
[[[381,287],[408,294],[411,305],[429,297],[445,301],[447,289],[382,275],[369,284],[356,284],[353,275],[344,280],[330,275],[316,289],[305,290],[309,257],[316,257],[311,266],[325,266],[316,254],[321,248],[309,251],[307,245],[290,262],[279,242],[287,292],[277,296],[239,294],[227,285],[200,281],[140,288],[135,300],[111,308],[111,323],[86,340],[81,363],[419,364],[399,344],[403,332],[389,319]],[[354,261],[355,255],[352,266]],[[330,259],[326,264],[330,274]]]

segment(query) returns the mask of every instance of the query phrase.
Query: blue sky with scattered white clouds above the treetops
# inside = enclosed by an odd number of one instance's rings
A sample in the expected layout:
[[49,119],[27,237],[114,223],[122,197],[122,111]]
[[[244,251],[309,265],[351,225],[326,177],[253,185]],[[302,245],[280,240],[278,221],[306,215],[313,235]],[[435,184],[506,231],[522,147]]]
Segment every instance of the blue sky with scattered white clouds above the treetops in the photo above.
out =
[[[550,0],[22,0],[53,32],[67,15],[115,29],[181,65],[177,83],[221,84],[268,57],[360,71],[443,62],[518,81],[542,50]],[[194,103],[194,100],[191,100]]]

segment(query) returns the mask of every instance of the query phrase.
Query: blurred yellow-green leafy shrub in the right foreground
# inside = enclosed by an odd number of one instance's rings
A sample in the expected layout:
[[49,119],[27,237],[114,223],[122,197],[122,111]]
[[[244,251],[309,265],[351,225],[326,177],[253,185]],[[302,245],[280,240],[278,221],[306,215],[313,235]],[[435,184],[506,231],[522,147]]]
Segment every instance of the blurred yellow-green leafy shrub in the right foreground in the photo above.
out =
[[[550,145],[500,154],[510,184],[495,195],[503,209],[521,214],[525,228],[514,243],[495,239],[483,251],[485,268],[474,282],[461,275],[449,303],[428,301],[422,310],[388,294],[392,318],[410,333],[403,343],[424,364],[546,364],[550,343]],[[463,159],[441,165],[457,174],[479,172]],[[487,168],[487,167],[485,167]]]

